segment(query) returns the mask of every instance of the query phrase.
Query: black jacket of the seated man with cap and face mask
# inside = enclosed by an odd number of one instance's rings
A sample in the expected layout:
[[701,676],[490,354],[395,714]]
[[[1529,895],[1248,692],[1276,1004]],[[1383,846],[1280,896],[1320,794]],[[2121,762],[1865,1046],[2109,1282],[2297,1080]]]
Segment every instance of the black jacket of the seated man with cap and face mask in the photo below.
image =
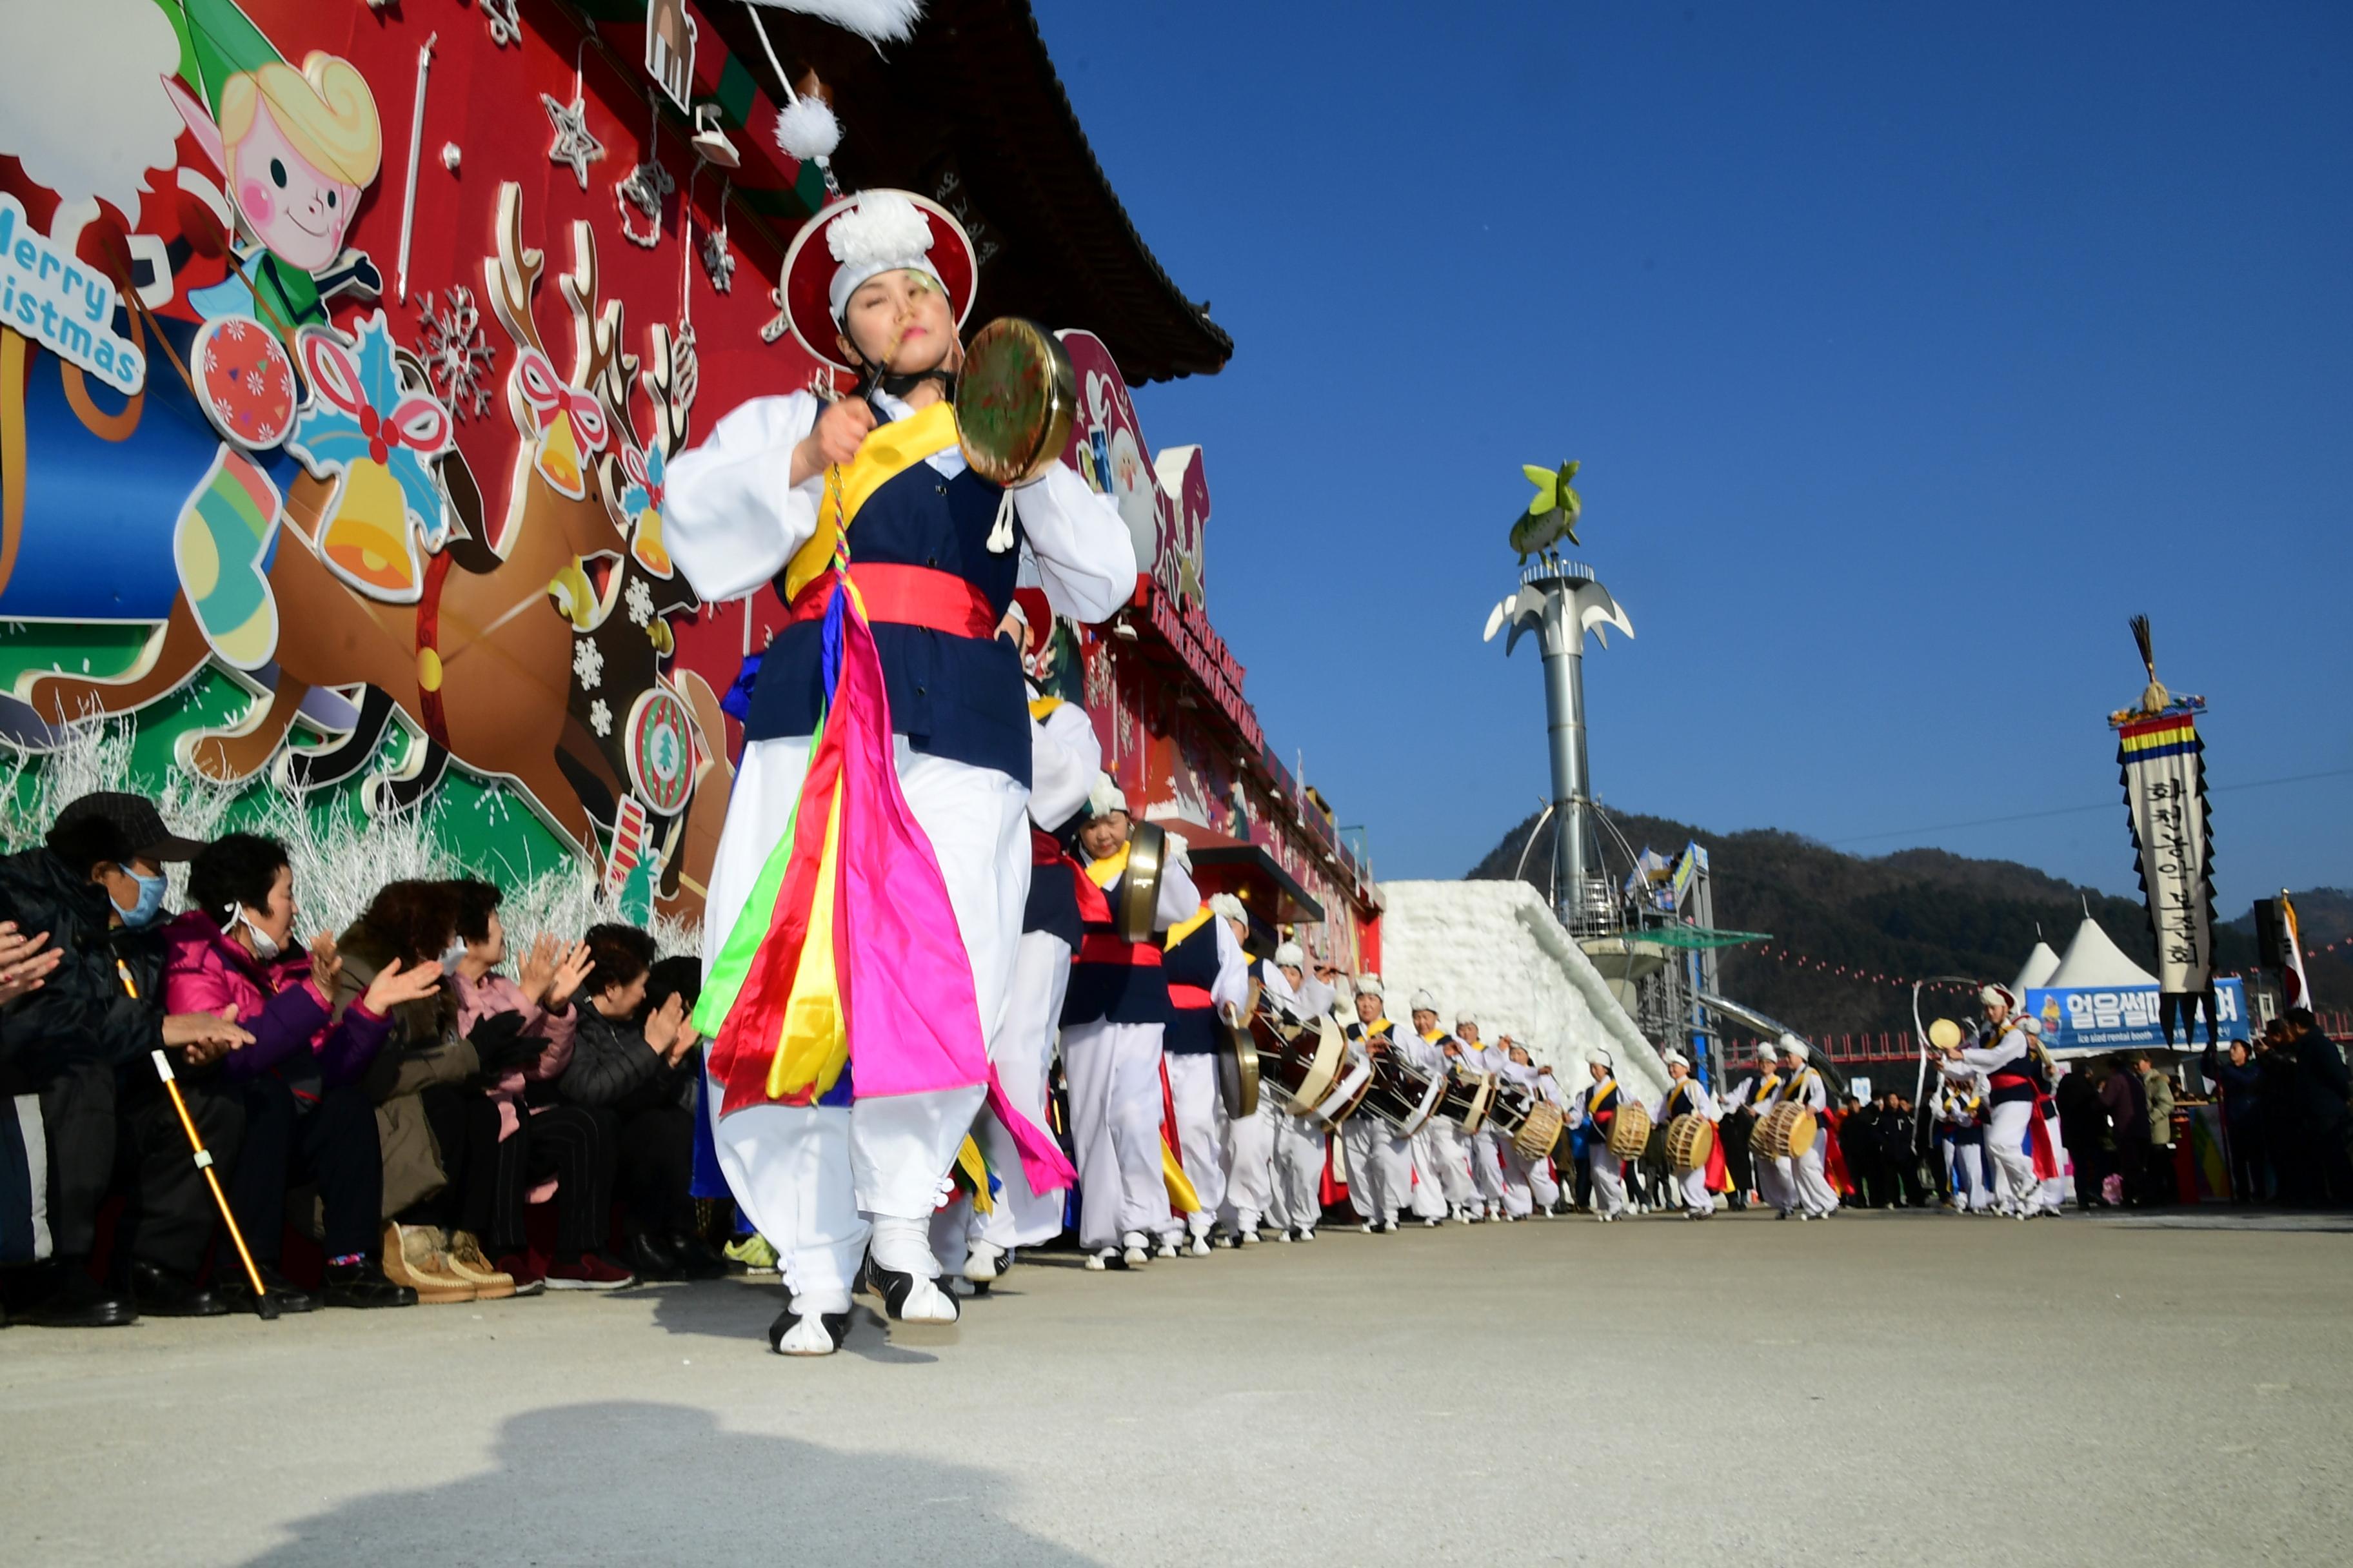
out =
[[47,849],[0,858],[0,919],[24,936],[47,931],[64,954],[0,1023],[0,1065],[16,1081],[92,1060],[122,1067],[162,1046],[162,933],[115,926],[113,912],[87,867],[75,872]]

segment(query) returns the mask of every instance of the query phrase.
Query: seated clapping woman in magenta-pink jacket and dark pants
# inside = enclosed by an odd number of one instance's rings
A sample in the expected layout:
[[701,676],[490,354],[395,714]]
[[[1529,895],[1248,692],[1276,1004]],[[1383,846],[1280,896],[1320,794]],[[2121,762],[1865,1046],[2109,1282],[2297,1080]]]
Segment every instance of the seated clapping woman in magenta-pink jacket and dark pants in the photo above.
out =
[[[285,844],[231,832],[188,867],[186,914],[165,929],[165,1006],[216,1013],[252,1032],[221,1063],[242,1088],[245,1140],[228,1171],[228,1204],[254,1253],[261,1284],[285,1312],[315,1302],[278,1272],[287,1187],[318,1182],[325,1211],[329,1307],[409,1307],[374,1260],[384,1161],[376,1110],[358,1079],[391,1032],[388,1011],[433,994],[438,964],[388,964],[367,994],[336,1018],[341,973],[334,938],[294,947],[294,870]],[[224,1286],[247,1293],[242,1281]]]

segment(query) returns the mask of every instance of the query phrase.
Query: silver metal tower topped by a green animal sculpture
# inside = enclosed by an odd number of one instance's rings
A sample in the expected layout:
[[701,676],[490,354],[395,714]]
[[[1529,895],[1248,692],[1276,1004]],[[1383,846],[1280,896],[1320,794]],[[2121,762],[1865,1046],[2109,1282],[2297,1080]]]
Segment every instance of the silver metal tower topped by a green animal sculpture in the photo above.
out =
[[[1586,632],[1609,646],[1607,628],[1633,637],[1633,621],[1593,576],[1593,567],[1560,557],[1555,545],[1577,538],[1584,498],[1569,484],[1577,463],[1522,465],[1537,496],[1511,524],[1511,548],[1520,555],[1520,588],[1487,611],[1487,642],[1506,625],[1504,654],[1534,630],[1544,654],[1544,710],[1553,762],[1553,905],[1572,933],[1607,922],[1609,889],[1602,879],[1600,844],[1593,832],[1593,792],[1586,773]],[[1537,564],[1527,564],[1534,555]]]

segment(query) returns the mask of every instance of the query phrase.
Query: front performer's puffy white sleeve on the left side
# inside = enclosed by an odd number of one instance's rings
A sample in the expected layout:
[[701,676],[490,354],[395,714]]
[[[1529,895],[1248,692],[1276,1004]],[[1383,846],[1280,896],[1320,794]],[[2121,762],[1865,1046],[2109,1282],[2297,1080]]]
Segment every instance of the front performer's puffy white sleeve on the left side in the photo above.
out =
[[671,461],[661,534],[706,604],[760,588],[816,534],[826,475],[793,484],[793,447],[819,411],[809,393],[753,397]]

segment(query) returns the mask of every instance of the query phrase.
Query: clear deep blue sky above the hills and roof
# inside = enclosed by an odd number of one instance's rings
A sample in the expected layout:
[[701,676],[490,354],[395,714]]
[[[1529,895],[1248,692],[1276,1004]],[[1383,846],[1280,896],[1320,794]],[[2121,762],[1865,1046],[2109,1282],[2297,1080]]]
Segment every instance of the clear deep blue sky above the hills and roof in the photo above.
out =
[[1238,343],[1139,411],[1207,449],[1209,611],[1384,877],[1546,792],[1480,628],[1520,463],[1574,456],[1638,632],[1586,658],[1607,804],[2132,893],[2120,804],[1925,827],[2115,802],[2146,611],[2224,912],[2353,886],[2353,7],[1038,16]]

